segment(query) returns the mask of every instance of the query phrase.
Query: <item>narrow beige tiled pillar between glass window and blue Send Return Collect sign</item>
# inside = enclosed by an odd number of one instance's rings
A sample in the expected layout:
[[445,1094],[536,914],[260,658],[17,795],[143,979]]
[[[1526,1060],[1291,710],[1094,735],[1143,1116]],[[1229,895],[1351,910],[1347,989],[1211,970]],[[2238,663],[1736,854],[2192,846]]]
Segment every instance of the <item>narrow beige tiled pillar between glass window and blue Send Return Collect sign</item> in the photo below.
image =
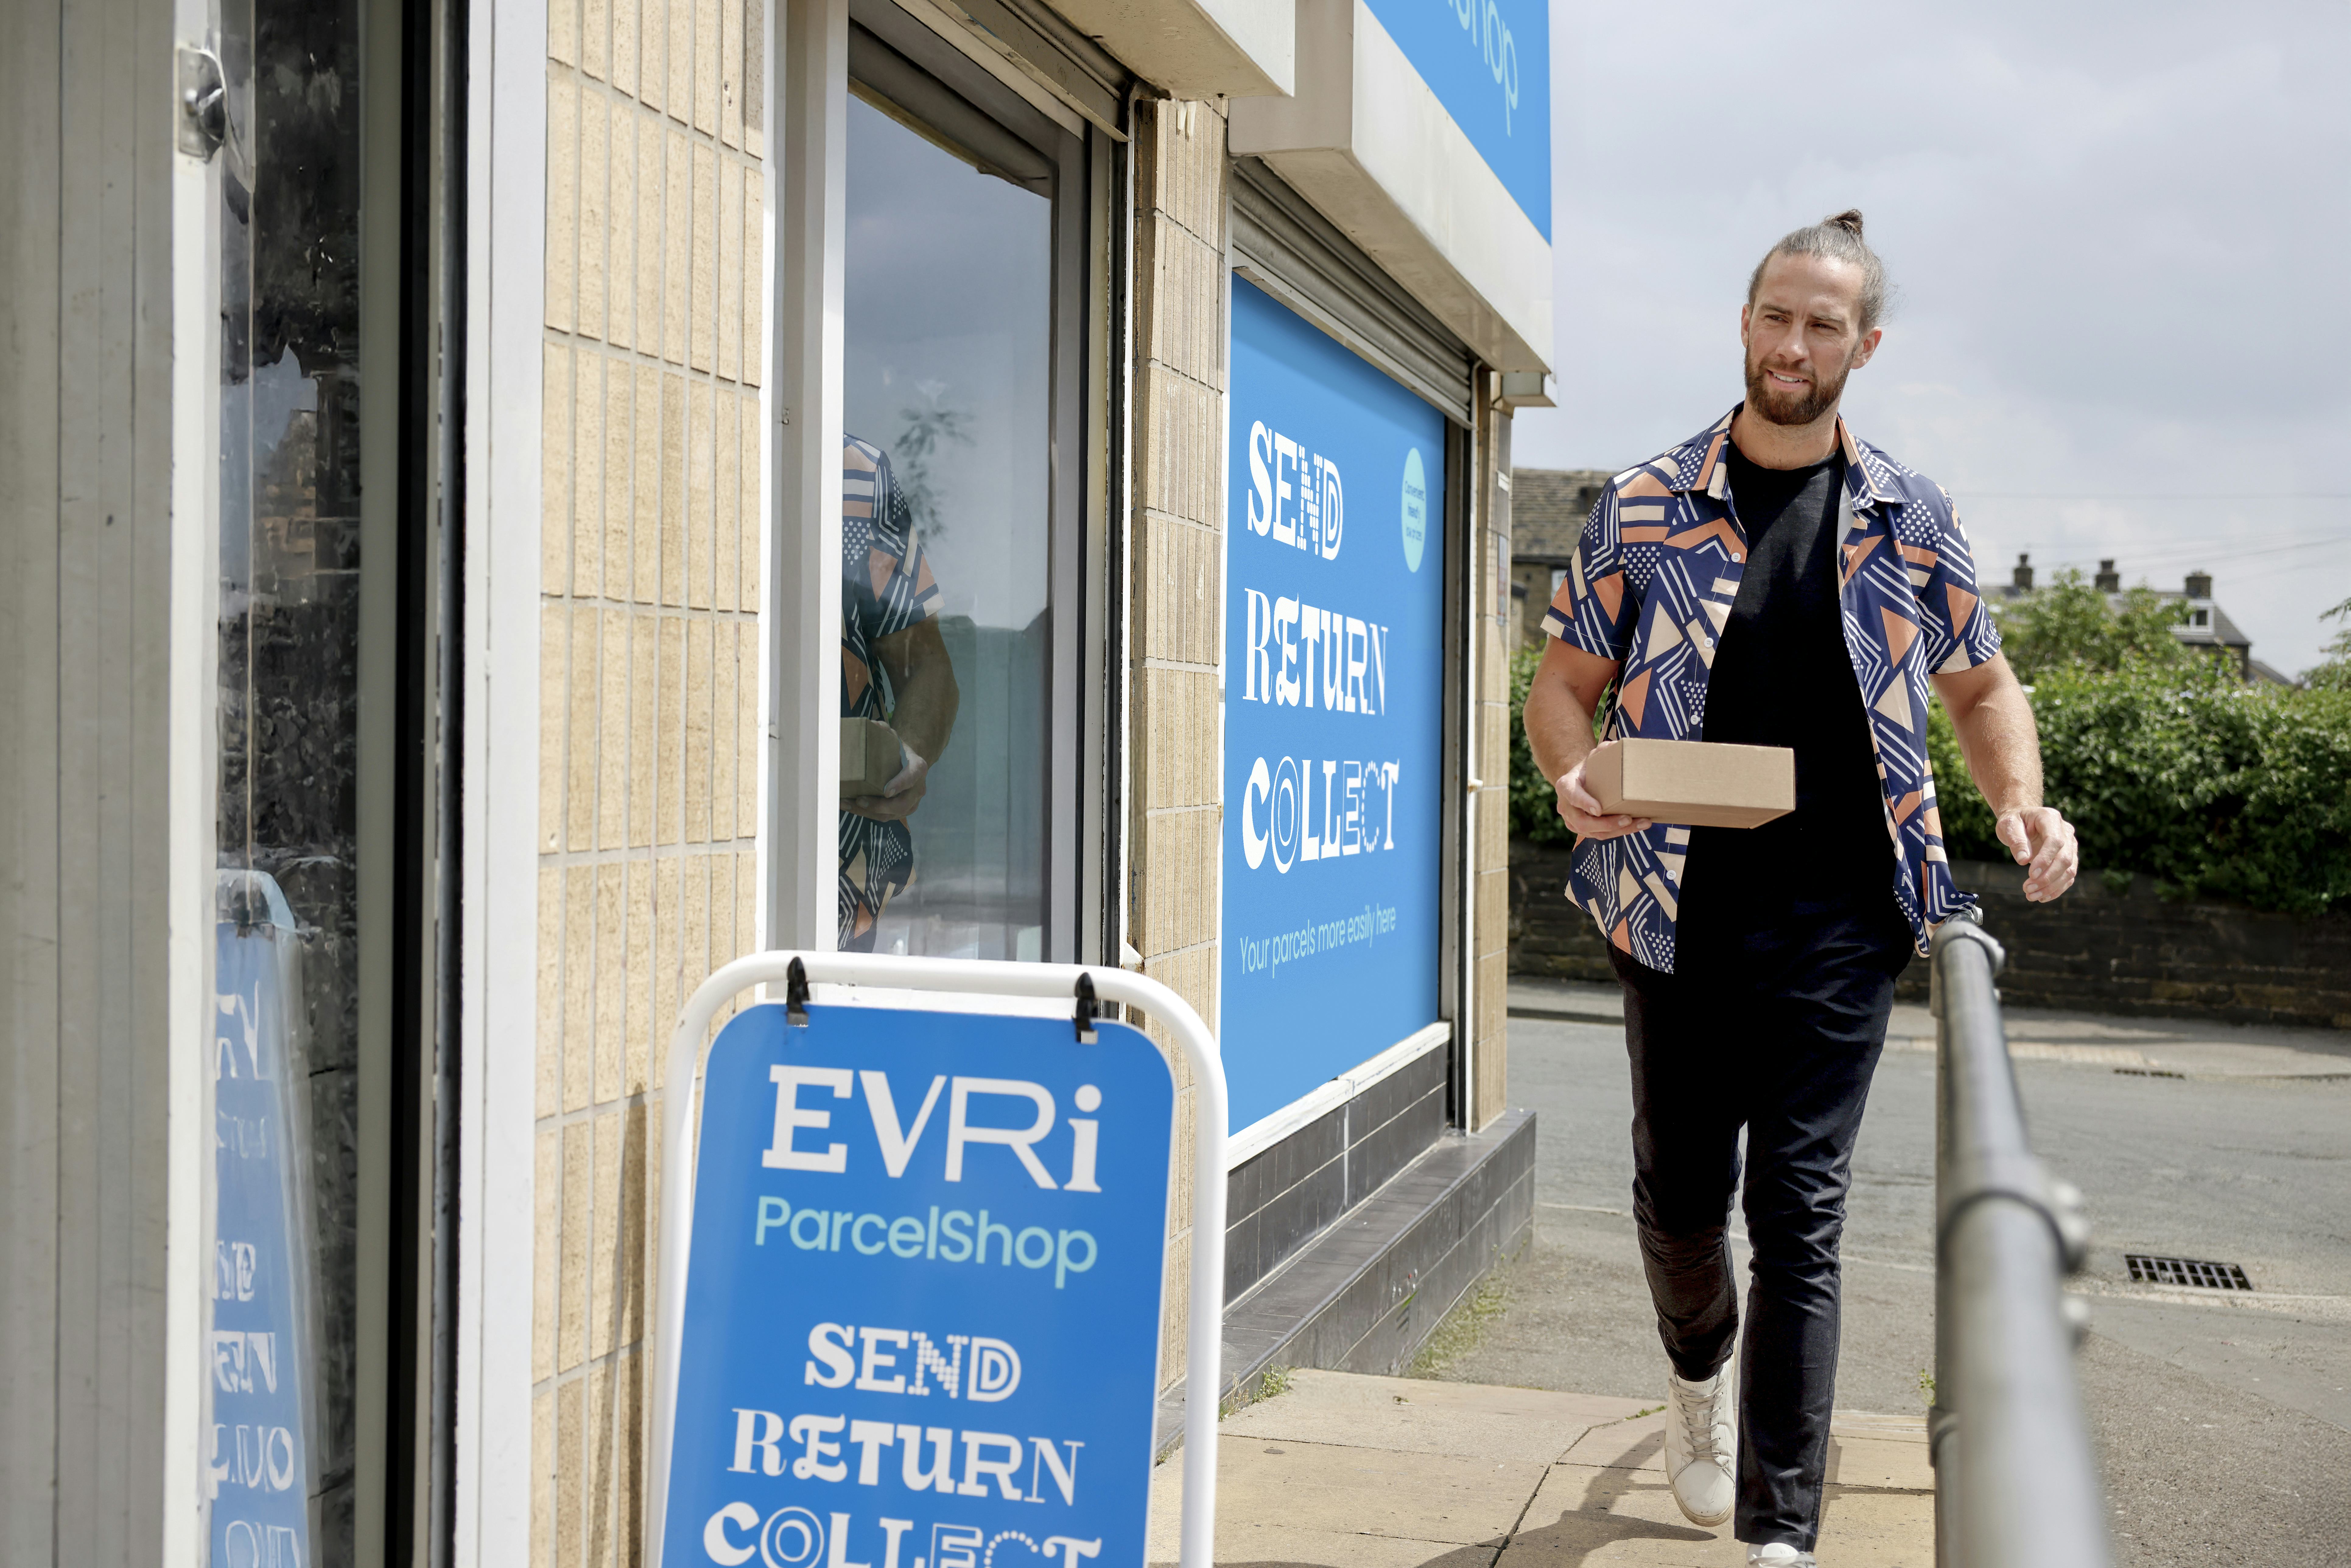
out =
[[[1128,940],[1215,1027],[1218,632],[1225,423],[1225,118],[1136,106],[1133,602],[1128,607]],[[1171,1041],[1150,1020],[1166,1051]],[[1176,1056],[1176,1204],[1161,1378],[1183,1378],[1194,1088]]]

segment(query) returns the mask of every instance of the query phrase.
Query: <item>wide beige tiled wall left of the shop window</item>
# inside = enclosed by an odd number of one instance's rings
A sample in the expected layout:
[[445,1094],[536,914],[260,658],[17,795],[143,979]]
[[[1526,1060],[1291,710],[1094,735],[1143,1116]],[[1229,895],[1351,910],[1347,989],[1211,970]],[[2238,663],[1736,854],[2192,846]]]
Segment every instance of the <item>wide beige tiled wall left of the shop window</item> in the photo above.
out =
[[531,1563],[639,1559],[654,1072],[752,947],[764,0],[552,0]]

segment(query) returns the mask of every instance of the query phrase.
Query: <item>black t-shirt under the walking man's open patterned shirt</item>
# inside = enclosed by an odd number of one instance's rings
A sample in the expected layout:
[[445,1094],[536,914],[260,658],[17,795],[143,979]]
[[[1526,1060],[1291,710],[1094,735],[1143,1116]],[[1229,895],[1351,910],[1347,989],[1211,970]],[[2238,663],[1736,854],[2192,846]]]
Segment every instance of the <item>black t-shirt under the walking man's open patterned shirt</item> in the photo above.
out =
[[1841,454],[1810,468],[1759,468],[1730,442],[1730,508],[1747,574],[1714,651],[1700,741],[1796,750],[1796,809],[1761,827],[1697,827],[1683,924],[1756,929],[1794,905],[1895,907],[1895,851],[1846,651],[1836,569]]

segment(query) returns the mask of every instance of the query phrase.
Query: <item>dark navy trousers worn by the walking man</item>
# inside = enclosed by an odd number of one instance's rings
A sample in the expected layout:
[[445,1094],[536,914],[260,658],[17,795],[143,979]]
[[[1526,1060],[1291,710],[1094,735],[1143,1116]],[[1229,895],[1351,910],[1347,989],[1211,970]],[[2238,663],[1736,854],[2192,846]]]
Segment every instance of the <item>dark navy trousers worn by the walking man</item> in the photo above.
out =
[[1742,1199],[1754,1260],[1733,1528],[1810,1552],[1853,1143],[1911,933],[1893,896],[1883,912],[1848,900],[1742,914],[1686,922],[1669,976],[1610,947],[1632,1058],[1634,1220],[1665,1354],[1683,1378],[1712,1378],[1740,1333],[1728,1220]]

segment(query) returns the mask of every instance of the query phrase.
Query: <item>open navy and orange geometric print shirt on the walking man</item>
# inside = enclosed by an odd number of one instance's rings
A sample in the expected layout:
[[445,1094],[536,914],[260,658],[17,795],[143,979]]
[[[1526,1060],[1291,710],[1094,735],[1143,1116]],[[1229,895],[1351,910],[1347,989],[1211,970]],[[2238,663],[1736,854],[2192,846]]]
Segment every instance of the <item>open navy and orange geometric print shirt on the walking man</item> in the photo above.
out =
[[[1733,416],[1737,409],[1608,482],[1542,616],[1552,637],[1617,663],[1610,741],[1704,736],[1714,644],[1747,571],[1747,534],[1723,461]],[[2001,632],[1977,592],[1951,496],[1855,440],[1843,418],[1836,440],[1846,454],[1838,607],[1895,846],[1886,891],[1925,952],[1937,924],[1975,905],[1954,886],[1942,844],[1925,755],[1928,675],[1984,663],[2001,651]],[[1690,830],[1667,823],[1585,839],[1568,860],[1568,893],[1620,952],[1672,973],[1688,851]]]

